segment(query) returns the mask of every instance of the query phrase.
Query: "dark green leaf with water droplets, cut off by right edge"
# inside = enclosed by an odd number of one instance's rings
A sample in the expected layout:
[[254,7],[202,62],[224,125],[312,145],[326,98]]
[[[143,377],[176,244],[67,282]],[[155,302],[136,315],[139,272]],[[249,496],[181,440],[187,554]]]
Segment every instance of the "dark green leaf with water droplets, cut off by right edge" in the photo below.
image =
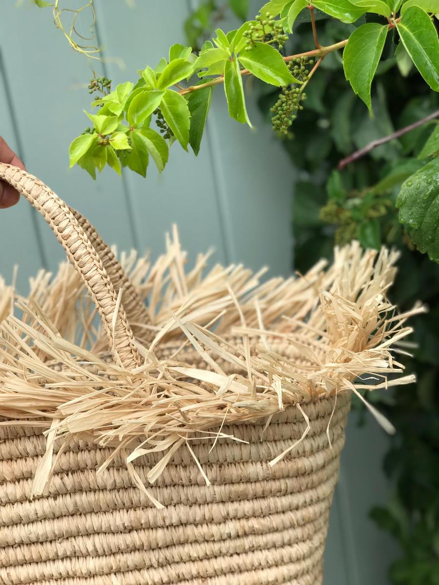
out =
[[399,221],[420,252],[439,262],[439,157],[416,171],[396,199]]

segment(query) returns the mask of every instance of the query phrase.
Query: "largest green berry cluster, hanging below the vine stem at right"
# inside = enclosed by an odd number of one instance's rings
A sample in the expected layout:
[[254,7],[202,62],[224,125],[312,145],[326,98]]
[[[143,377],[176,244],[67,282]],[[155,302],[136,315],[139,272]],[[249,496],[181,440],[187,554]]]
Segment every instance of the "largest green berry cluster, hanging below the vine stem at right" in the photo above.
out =
[[[294,61],[290,61],[288,68],[291,73],[299,81],[305,82],[308,80],[310,73],[308,66],[313,64],[313,60],[308,57],[299,57]],[[297,111],[303,109],[301,102],[306,99],[306,94],[301,90],[300,86],[289,85],[282,89],[276,104],[270,109],[274,114],[272,117],[273,130],[281,136],[285,136],[296,119]]]

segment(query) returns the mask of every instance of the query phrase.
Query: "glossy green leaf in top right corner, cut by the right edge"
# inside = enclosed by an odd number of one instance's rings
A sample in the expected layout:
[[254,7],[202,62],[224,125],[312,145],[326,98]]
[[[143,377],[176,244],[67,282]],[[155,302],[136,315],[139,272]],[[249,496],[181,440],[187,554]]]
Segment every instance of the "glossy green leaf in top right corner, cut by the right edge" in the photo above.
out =
[[414,66],[431,89],[439,91],[439,39],[428,14],[409,6],[396,28]]

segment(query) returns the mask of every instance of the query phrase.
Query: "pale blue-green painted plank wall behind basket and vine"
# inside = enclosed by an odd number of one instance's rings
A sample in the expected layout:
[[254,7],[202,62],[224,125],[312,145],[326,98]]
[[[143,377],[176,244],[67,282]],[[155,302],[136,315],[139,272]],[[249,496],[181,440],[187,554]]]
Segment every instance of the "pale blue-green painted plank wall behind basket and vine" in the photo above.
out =
[[[182,23],[195,0],[96,0],[98,42],[105,57],[92,65],[114,84],[135,80],[136,70],[155,63],[173,42],[184,42]],[[191,257],[215,246],[221,262],[242,261],[271,274],[291,272],[293,173],[246,89],[254,130],[229,120],[217,88],[198,158],[173,147],[162,176],[104,171],[94,183],[68,170],[67,146],[88,125],[86,90],[91,64],[68,47],[50,11],[2,0],[0,12],[0,135],[20,153],[33,174],[87,216],[120,249],[163,250],[173,222]],[[77,0],[70,0],[75,6]],[[166,18],[163,18],[163,13]],[[300,193],[297,194],[300,197]],[[0,213],[0,272],[11,277],[18,263],[19,285],[39,267],[54,269],[63,257],[47,225],[26,201]],[[386,438],[373,421],[358,429],[351,417],[342,473],[332,508],[325,561],[325,585],[385,585],[392,542],[367,518],[386,497],[380,462]]]

